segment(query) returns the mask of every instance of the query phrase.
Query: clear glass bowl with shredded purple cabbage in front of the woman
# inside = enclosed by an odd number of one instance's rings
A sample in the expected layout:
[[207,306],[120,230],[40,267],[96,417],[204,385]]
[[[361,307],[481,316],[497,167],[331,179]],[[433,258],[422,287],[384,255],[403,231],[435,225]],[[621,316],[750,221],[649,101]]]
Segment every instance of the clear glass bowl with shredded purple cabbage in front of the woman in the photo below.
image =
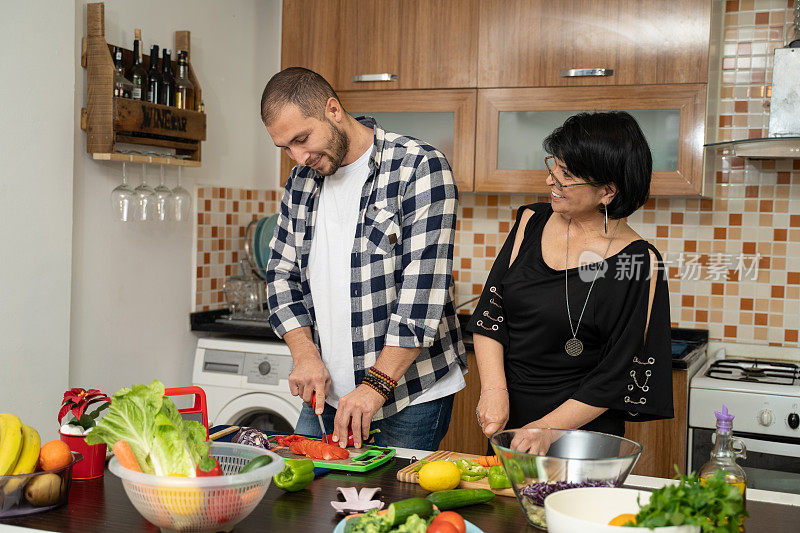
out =
[[[514,439],[527,453],[511,448]],[[531,525],[546,529],[544,499],[577,487],[618,487],[628,477],[641,444],[615,435],[569,429],[511,429],[490,439]],[[514,448],[519,448],[515,442]]]

